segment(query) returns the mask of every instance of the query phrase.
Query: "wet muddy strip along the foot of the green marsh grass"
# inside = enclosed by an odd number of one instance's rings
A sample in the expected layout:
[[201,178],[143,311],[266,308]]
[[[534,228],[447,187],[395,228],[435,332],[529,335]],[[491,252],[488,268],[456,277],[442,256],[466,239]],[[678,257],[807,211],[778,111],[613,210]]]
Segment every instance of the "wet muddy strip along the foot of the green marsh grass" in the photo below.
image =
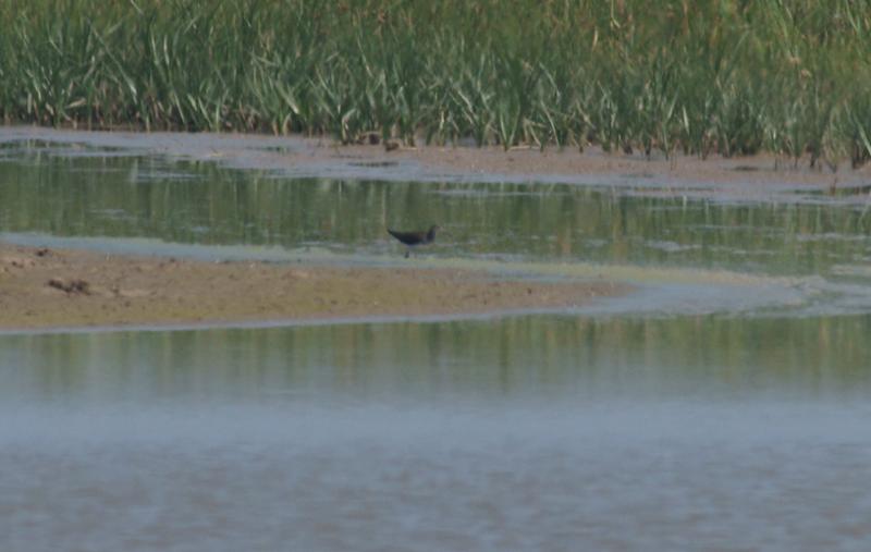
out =
[[[274,172],[286,177],[327,177],[420,182],[541,182],[606,185],[654,195],[749,200],[802,200],[803,194],[866,203],[871,163],[837,172],[808,159],[771,155],[723,158],[654,154],[584,152],[566,148],[420,146],[387,151],[382,145],[338,146],[329,137],[243,134],[81,132],[30,126],[0,127],[0,144],[45,140],[71,144],[59,155],[158,155],[214,161],[228,167]],[[108,148],[87,151],[85,148]],[[798,194],[797,194],[798,193]],[[807,198],[807,196],[803,196]]]

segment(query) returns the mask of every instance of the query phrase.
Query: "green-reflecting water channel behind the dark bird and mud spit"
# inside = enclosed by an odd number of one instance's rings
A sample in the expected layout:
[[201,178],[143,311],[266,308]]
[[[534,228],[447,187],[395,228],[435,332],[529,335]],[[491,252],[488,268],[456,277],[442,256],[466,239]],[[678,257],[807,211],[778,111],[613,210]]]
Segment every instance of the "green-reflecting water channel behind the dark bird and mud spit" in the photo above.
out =
[[[9,146],[7,146],[9,148]],[[384,228],[450,230],[459,256],[827,273],[871,259],[860,206],[738,205],[542,184],[284,180],[135,156],[24,148],[0,159],[0,230],[394,250]]]

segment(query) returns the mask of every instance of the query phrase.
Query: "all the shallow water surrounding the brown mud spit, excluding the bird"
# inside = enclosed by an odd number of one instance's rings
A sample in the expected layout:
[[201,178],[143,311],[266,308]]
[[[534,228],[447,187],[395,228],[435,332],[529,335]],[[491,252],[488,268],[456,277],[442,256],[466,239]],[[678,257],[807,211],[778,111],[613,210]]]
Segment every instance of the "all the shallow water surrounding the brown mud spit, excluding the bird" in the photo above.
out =
[[436,220],[422,265],[641,291],[495,320],[0,335],[0,549],[871,545],[861,208],[110,154],[7,146],[4,238],[390,263],[384,225]]

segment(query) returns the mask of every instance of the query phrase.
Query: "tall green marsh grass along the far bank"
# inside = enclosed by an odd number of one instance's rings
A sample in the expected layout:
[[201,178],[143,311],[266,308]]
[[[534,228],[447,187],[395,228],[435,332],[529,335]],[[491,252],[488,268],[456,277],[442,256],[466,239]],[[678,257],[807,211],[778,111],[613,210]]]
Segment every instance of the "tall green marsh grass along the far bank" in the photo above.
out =
[[9,0],[0,116],[871,158],[871,2]]

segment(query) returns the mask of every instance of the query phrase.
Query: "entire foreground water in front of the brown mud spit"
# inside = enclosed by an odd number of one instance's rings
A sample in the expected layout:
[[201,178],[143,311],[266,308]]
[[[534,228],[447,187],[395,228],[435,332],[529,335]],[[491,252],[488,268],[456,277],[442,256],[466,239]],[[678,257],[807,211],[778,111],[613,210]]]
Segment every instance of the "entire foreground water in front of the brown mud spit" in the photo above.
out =
[[0,336],[0,528],[15,528],[0,543],[860,550],[870,329],[518,317]]

